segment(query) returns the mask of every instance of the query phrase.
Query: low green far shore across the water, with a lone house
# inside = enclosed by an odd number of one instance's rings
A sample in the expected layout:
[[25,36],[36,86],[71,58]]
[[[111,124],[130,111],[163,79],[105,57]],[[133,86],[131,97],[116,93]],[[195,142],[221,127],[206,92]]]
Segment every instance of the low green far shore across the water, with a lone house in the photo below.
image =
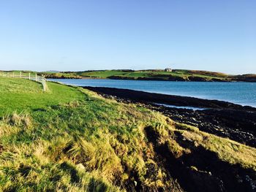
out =
[[203,82],[256,82],[256,74],[229,75],[222,72],[207,72],[200,70],[173,69],[165,72],[163,69],[146,70],[97,70],[84,72],[44,72],[47,78],[103,78],[113,80],[167,80],[167,81],[203,81]]

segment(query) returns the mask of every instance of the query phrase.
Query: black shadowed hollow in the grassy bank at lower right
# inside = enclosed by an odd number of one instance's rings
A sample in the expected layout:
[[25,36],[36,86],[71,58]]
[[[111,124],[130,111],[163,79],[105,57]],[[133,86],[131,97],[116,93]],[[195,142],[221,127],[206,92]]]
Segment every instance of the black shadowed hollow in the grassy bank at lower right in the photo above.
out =
[[[167,144],[157,143],[157,134],[153,128],[146,128],[148,139],[154,143],[154,150],[165,163],[165,169],[178,180],[184,191],[255,191],[256,175],[251,169],[230,165],[220,161],[215,153],[195,147],[188,140],[177,135],[176,142],[191,153],[175,157]],[[192,167],[195,167],[192,169]]]

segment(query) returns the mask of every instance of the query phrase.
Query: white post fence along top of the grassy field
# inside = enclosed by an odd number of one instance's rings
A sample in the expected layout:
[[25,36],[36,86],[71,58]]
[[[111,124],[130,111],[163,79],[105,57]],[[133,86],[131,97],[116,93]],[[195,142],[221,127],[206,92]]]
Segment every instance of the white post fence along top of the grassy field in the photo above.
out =
[[0,72],[2,77],[12,77],[12,78],[23,78],[28,80],[34,80],[42,84],[43,91],[47,91],[46,79],[44,76],[39,76],[37,73],[29,72]]

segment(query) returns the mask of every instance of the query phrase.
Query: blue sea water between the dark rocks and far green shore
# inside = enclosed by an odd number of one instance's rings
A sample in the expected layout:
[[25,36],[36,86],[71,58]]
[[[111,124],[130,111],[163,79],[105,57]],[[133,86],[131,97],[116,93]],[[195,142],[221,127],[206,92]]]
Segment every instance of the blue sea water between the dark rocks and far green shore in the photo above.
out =
[[151,93],[218,99],[256,107],[256,82],[172,82],[141,80],[53,80],[69,85],[127,88]]

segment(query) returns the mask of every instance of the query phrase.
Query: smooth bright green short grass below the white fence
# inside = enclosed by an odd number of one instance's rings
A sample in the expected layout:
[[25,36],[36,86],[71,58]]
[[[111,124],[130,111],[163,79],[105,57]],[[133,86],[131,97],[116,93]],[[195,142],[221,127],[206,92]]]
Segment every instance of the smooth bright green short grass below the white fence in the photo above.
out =
[[39,82],[24,79],[0,78],[0,115],[10,112],[31,112],[44,107],[83,99],[76,88],[48,82],[49,91],[44,92]]

